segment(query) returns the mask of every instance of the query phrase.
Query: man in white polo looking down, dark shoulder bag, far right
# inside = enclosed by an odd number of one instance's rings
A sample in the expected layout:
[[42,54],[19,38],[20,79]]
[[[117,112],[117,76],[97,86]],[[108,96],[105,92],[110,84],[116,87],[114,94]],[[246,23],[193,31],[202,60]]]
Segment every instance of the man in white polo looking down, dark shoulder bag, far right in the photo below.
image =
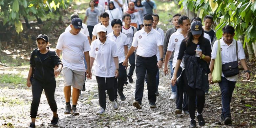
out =
[[[209,83],[212,83],[212,71],[215,68],[215,58],[218,50],[218,42],[220,41],[221,47],[221,60],[222,65],[230,62],[238,61],[241,62],[245,70],[246,80],[250,79],[250,71],[248,70],[246,61],[245,61],[245,52],[243,49],[243,45],[240,41],[236,41],[233,39],[235,36],[235,29],[232,26],[224,26],[222,29],[223,38],[220,40],[216,40],[212,47],[212,57],[210,62],[210,71],[209,74]],[[237,44],[236,44],[237,43]],[[238,65],[237,65],[238,66]],[[224,121],[225,125],[231,124],[231,112],[230,112],[230,102],[232,98],[232,93],[235,89],[236,81],[238,80],[238,74],[234,76],[225,76],[222,71],[221,82],[219,82],[219,86],[221,89],[221,101],[222,101],[222,114],[221,121]]]

